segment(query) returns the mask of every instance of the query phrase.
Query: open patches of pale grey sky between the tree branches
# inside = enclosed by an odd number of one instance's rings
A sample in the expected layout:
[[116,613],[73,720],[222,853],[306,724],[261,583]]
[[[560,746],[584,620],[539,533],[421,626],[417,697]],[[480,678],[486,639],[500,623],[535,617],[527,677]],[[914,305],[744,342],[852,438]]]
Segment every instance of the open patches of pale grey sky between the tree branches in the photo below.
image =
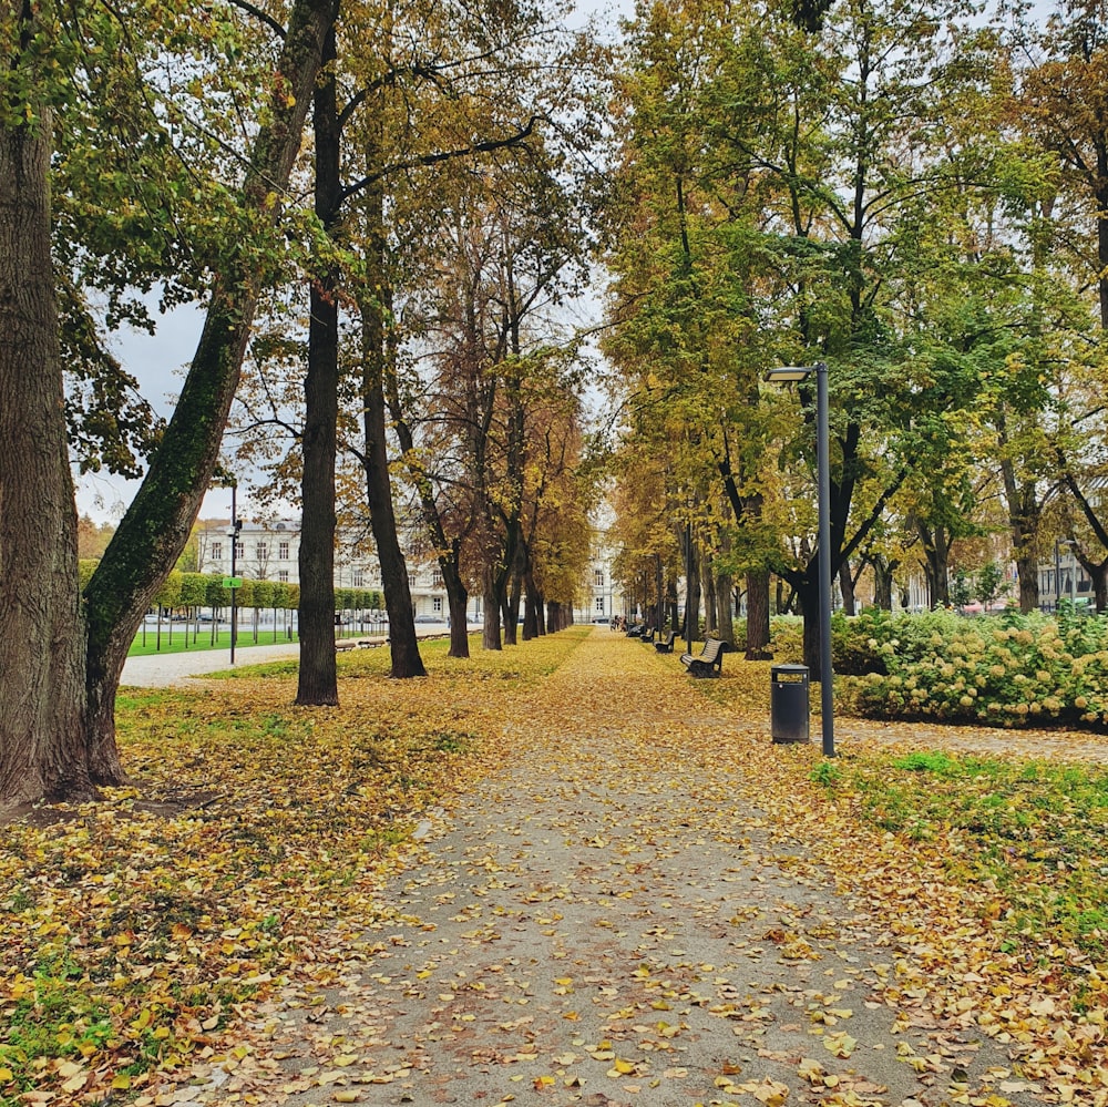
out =
[[[568,19],[571,27],[584,24],[595,17],[605,29],[605,37],[616,37],[618,20],[634,9],[634,0],[581,0],[574,14]],[[184,380],[184,371],[196,348],[203,324],[203,311],[193,307],[178,308],[173,312],[156,316],[157,332],[154,336],[121,328],[111,336],[112,352],[123,367],[138,381],[140,391],[154,410],[168,419],[177,392]],[[78,513],[88,515],[98,523],[115,523],[138,490],[140,481],[125,480],[111,473],[74,472],[76,484]],[[239,495],[238,513],[249,517],[249,505]],[[201,506],[201,519],[230,519],[230,492],[213,489]]]

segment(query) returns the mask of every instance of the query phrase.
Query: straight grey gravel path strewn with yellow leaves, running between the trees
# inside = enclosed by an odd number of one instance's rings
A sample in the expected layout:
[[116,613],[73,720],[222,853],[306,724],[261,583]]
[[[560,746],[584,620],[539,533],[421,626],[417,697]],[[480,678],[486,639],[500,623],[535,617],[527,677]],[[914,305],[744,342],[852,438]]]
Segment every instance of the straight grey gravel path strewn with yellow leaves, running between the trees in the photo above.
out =
[[971,1012],[931,1014],[895,937],[741,798],[704,700],[657,684],[591,636],[505,719],[511,768],[420,828],[387,916],[165,1103],[1050,1101]]

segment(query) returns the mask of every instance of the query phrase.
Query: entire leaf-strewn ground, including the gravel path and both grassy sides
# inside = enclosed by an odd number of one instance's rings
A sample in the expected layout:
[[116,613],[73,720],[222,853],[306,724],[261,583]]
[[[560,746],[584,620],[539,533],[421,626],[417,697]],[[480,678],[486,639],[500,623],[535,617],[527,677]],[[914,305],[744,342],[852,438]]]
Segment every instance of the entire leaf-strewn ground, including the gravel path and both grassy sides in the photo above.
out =
[[427,653],[124,700],[136,788],[2,830],[0,1099],[1108,1103],[1099,770],[828,765],[606,631]]

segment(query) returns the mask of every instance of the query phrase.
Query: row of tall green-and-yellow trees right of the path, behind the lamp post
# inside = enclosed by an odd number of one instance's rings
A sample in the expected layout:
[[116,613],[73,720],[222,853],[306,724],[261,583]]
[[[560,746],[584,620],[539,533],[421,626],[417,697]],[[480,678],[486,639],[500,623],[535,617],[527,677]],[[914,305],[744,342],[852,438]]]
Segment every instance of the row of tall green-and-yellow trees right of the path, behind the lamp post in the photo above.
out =
[[996,532],[1025,611],[1059,534],[1104,608],[1104,6],[798,11],[686,0],[629,28],[605,239],[625,578],[690,560],[694,609],[738,580],[752,654],[770,573],[815,612],[814,383],[760,381],[820,360],[848,609],[860,572],[889,605],[911,562],[948,602],[952,551]]

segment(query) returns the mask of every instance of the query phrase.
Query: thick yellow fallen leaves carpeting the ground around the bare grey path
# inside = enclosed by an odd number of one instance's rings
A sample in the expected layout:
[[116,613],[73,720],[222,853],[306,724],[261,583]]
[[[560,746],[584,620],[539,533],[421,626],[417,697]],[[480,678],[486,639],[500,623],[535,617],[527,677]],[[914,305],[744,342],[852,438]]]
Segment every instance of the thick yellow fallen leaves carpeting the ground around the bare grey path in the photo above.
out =
[[[278,1101],[258,1013],[289,996],[310,1011],[351,951],[387,945],[402,923],[390,880],[428,828],[479,779],[524,760],[548,766],[532,789],[552,802],[560,771],[620,803],[647,782],[665,799],[659,782],[695,773],[701,824],[675,819],[659,849],[695,849],[706,832],[765,836],[759,865],[774,879],[829,898],[837,888],[850,904],[837,942],[863,927],[888,945],[883,1004],[973,1025],[1014,1058],[998,1088],[1106,1101],[1108,779],[1073,760],[1077,747],[1044,739],[1070,757],[1047,765],[1007,756],[1007,731],[842,719],[843,756],[824,761],[769,740],[767,664],[728,655],[719,679],[693,681],[676,658],[587,628],[468,660],[444,650],[428,647],[419,681],[387,679],[383,650],[340,657],[341,708],[290,706],[290,663],[121,698],[134,787],[0,831],[0,1101],[102,1103],[116,1089],[154,1107],[201,1068],[224,1082],[205,1101]],[[566,744],[570,716],[617,751],[603,780],[595,750]],[[947,735],[973,755],[944,750]],[[575,833],[603,855],[594,830]],[[802,931],[767,939],[774,957],[815,955]],[[820,1027],[834,1057],[853,1048],[850,1025]],[[336,1050],[322,1094],[357,1101],[357,1058]],[[847,1103],[825,1083],[824,1054],[794,1072]],[[716,1079],[724,1095],[781,1095],[733,1069]],[[988,1103],[1009,1101],[997,1095]]]

